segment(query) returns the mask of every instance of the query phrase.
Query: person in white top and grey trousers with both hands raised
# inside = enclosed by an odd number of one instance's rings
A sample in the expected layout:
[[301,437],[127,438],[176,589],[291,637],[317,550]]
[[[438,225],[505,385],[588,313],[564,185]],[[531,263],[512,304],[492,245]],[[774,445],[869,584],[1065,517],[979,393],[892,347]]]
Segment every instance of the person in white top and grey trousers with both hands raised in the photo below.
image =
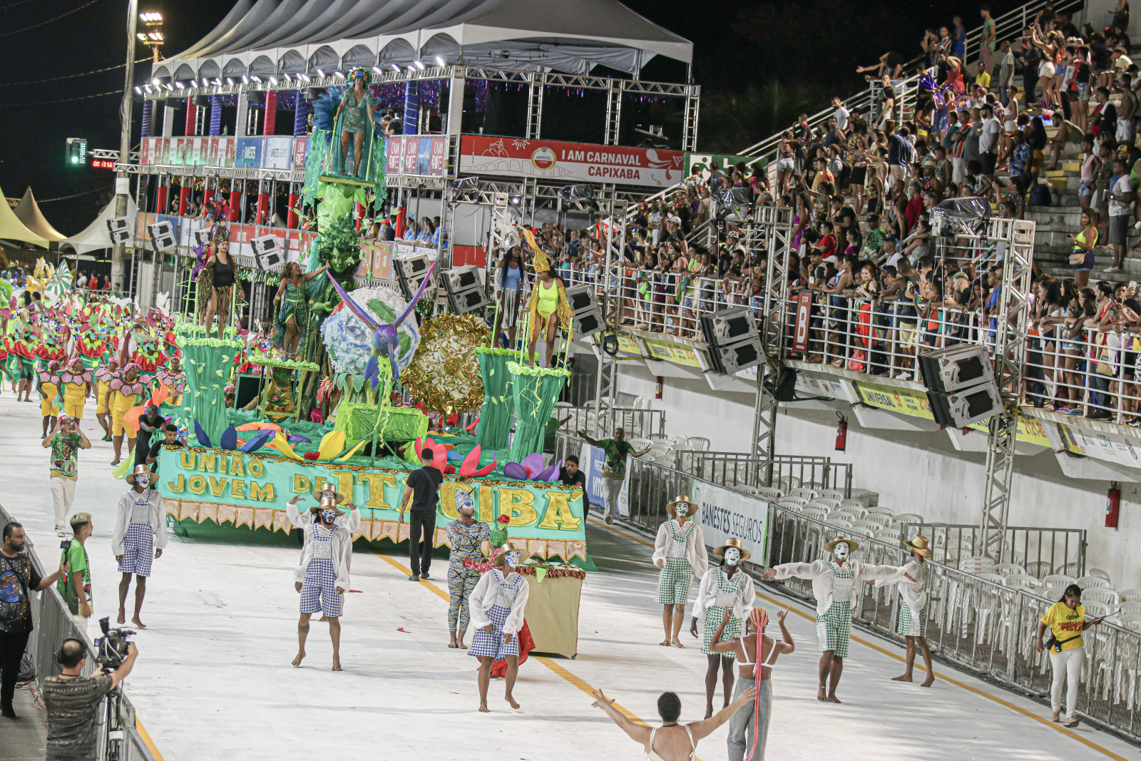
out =
[[[769,624],[769,612],[760,607],[753,608],[745,625],[745,635],[741,639],[721,639],[731,618],[728,610],[721,618],[721,625],[713,632],[710,649],[737,656],[734,702],[751,688],[756,694],[752,705],[742,706],[729,720],[729,761],[764,761],[764,744],[769,737],[769,719],[772,715],[772,666],[778,657],[796,649],[796,643],[784,624],[787,615],[788,608],[777,614],[782,638],[779,642],[764,633],[764,628]],[[756,666],[761,667],[760,675],[756,674]],[[747,754],[746,747],[751,748]]]

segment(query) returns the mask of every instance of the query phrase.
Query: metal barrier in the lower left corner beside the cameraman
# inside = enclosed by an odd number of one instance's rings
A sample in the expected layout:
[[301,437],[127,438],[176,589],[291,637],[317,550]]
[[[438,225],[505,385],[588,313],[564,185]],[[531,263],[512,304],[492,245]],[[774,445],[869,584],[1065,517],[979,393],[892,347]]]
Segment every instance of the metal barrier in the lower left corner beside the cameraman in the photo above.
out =
[[[0,526],[7,525],[11,520],[11,517],[5,510],[3,505],[0,505]],[[32,559],[32,565],[35,572],[41,576],[47,576],[54,573],[56,566],[51,566],[49,569],[43,565],[41,559],[35,552],[35,543],[31,537],[27,537],[27,544],[25,548],[25,553]],[[55,550],[49,550],[48,557],[54,557]],[[35,680],[38,682],[38,690],[42,689],[43,680],[48,677],[55,677],[62,673],[62,667],[56,663],[56,653],[59,650],[60,645],[65,639],[79,639],[87,643],[88,653],[94,653],[95,647],[91,638],[87,632],[81,631],[79,626],[75,625],[75,620],[72,617],[71,612],[67,610],[67,604],[64,602],[63,598],[59,597],[59,592],[56,591],[52,584],[48,589],[39,593],[39,597],[32,597],[32,621],[35,624],[34,637],[29,639],[27,647],[31,651],[32,663],[35,664]],[[82,674],[84,677],[90,677],[96,671],[95,659],[88,657],[83,662]],[[99,759],[115,759],[115,761],[155,761],[154,755],[152,755],[149,748],[143,742],[141,735],[139,735],[138,729],[135,726],[135,706],[131,705],[130,699],[128,699],[124,685],[120,685],[119,688],[119,701],[118,701],[118,720],[120,727],[123,729],[123,737],[118,747],[118,754],[114,753],[116,748],[106,747],[106,721],[107,712],[106,705],[100,704],[99,706]]]

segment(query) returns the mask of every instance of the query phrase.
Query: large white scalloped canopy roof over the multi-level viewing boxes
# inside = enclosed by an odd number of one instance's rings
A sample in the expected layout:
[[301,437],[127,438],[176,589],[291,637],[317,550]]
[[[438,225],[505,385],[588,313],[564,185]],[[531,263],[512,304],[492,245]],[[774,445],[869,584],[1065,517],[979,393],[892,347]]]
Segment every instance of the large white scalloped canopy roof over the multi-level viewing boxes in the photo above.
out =
[[693,62],[693,43],[617,0],[238,0],[160,80],[319,75],[353,66],[447,64],[638,74],[654,56]]

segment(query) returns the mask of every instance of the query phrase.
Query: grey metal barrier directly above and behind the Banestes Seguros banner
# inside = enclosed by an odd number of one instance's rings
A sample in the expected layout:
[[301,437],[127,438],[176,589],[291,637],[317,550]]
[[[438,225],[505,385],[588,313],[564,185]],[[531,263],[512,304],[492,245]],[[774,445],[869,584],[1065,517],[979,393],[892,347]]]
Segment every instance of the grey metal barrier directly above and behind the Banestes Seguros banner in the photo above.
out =
[[674,453],[677,470],[691,473],[719,486],[748,491],[755,487],[837,489],[851,496],[852,467],[831,458],[775,455],[771,460],[743,452]]

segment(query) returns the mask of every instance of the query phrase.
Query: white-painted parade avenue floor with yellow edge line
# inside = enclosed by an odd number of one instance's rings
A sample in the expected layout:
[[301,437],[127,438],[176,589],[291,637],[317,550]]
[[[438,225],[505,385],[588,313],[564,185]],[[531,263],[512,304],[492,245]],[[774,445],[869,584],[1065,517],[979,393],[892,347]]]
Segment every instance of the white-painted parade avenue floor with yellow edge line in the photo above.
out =
[[[115,615],[119,574],[110,534],[115,502],[127,486],[111,476],[111,444],[98,440],[94,410],[89,404],[82,422],[94,448],[80,456],[73,511],[95,516],[88,552],[98,618]],[[0,501],[51,564],[58,540],[51,532],[39,405],[16,403],[5,390],[0,420]],[[359,593],[347,594],[345,671],[333,673],[327,629],[316,622],[304,667],[290,666],[297,650],[291,570],[298,549],[173,535],[154,562],[143,609],[148,628],[135,638],[140,657],[127,689],[168,761],[639,759],[641,750],[591,707],[584,689],[604,688],[646,721],[656,720],[657,696],[674,690],[682,719],[696,720],[704,703],[705,656],[688,634],[687,649],[657,645],[661,608],[644,541],[592,521],[588,548],[601,572],[590,574],[583,590],[578,657],[524,664],[516,686],[518,711],[503,702],[502,681],[492,682],[492,713],[476,711],[476,662],[447,649],[446,599],[428,584],[407,581],[406,558],[354,554],[351,588]],[[445,598],[446,570],[446,561],[434,561],[431,583]],[[775,616],[778,604],[761,602]],[[892,682],[901,671],[901,650],[860,632],[856,635],[867,643],[852,643],[840,687],[844,704],[818,703],[811,610],[793,605],[788,623],[796,651],[782,657],[775,672],[769,759],[1136,758],[1135,747],[1106,732],[1043,721],[1049,718],[1043,705],[947,666],[937,664],[937,673],[958,685],[940,679],[921,689],[917,682]],[[922,672],[916,674],[922,679]],[[727,730],[723,726],[703,740],[698,756],[727,758]]]

